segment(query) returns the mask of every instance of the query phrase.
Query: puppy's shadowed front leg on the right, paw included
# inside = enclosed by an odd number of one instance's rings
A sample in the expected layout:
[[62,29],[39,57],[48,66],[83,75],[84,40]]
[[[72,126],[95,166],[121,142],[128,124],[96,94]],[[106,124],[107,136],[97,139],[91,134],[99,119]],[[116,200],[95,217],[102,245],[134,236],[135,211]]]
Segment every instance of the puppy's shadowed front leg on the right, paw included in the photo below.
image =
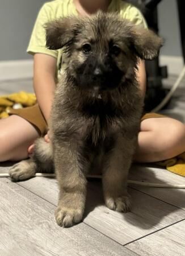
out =
[[113,148],[104,156],[103,192],[108,208],[118,212],[131,209],[131,197],[127,193],[127,177],[131,166],[133,142],[117,137]]

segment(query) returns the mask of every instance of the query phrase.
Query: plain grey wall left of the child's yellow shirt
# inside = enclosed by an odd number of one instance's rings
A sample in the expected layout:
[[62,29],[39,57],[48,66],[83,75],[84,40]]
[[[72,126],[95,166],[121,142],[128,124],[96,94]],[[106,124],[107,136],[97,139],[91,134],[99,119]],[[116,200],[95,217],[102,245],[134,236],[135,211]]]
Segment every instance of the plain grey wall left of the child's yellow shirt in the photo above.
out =
[[0,61],[30,59],[26,53],[37,12],[45,0],[0,0]]

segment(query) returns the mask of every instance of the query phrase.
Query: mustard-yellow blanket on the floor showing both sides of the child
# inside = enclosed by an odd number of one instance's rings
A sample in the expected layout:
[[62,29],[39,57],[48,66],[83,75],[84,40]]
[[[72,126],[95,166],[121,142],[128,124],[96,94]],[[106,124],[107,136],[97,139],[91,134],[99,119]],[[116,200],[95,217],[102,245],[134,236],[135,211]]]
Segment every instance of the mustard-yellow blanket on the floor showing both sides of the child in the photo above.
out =
[[[0,97],[0,118],[9,116],[10,108],[24,108],[36,103],[33,93],[19,92]],[[158,166],[166,167],[170,172],[185,177],[185,152],[175,158],[167,159],[157,163]]]

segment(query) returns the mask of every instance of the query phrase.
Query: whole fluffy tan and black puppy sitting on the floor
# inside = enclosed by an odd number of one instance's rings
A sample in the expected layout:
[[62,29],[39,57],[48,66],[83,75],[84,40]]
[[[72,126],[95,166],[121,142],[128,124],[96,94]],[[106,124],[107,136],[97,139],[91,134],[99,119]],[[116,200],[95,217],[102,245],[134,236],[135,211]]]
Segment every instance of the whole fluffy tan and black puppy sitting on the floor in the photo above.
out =
[[127,212],[127,176],[136,148],[143,98],[136,79],[140,59],[152,60],[162,39],[115,14],[68,17],[46,24],[47,47],[63,48],[65,65],[54,94],[51,143],[36,141],[31,159],[10,170],[12,181],[56,172],[57,224],[82,220],[86,174],[102,170],[108,208]]

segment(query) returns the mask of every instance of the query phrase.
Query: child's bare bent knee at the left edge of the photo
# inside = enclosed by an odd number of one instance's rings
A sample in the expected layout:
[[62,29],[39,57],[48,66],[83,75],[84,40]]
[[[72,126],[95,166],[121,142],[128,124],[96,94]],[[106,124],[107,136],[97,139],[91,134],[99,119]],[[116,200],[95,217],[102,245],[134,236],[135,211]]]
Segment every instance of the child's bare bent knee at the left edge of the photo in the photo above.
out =
[[39,132],[18,115],[0,120],[0,162],[28,157],[28,147],[39,137]]

